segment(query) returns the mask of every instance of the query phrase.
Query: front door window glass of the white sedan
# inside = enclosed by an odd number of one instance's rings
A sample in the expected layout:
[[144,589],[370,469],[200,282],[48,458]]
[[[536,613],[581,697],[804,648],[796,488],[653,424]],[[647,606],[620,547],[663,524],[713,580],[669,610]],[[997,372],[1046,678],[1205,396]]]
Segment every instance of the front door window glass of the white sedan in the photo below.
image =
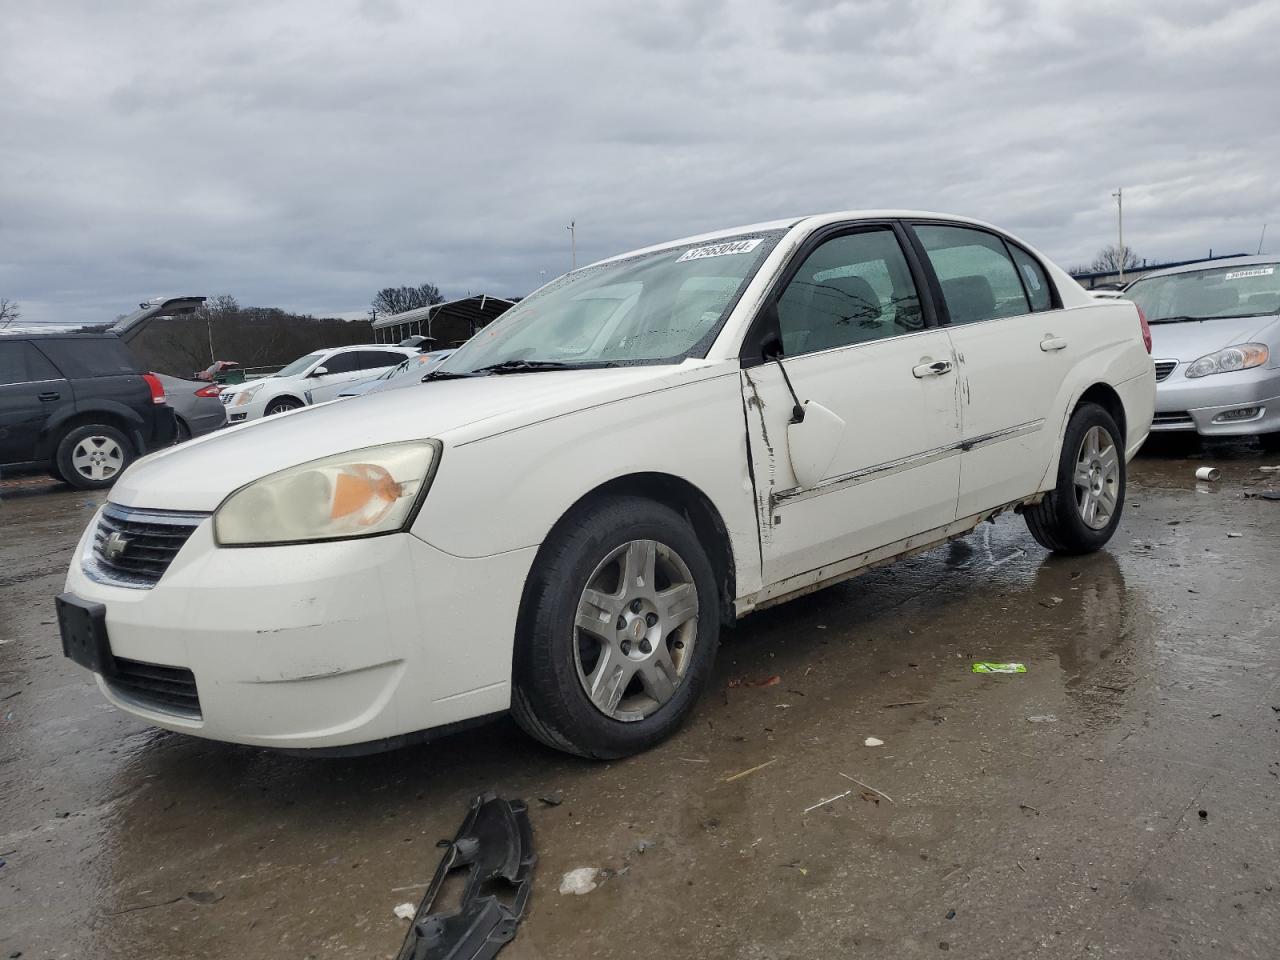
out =
[[835,237],[805,257],[778,297],[788,357],[923,329],[920,298],[890,228]]

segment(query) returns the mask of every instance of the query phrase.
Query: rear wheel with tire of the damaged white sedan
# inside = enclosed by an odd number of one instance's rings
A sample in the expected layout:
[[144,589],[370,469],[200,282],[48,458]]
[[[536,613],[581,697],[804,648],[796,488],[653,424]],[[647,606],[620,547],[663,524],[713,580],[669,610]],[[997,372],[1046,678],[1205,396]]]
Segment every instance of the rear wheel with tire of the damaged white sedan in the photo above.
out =
[[[1098,449],[1096,456],[1087,457],[1084,444],[1091,438],[1098,440]],[[1112,457],[1106,456],[1107,442]],[[1082,467],[1079,477],[1078,465]],[[1036,541],[1053,553],[1082,554],[1102,549],[1124,512],[1125,466],[1124,440],[1116,421],[1097,403],[1082,403],[1066,425],[1057,484],[1043,500],[1023,513]]]

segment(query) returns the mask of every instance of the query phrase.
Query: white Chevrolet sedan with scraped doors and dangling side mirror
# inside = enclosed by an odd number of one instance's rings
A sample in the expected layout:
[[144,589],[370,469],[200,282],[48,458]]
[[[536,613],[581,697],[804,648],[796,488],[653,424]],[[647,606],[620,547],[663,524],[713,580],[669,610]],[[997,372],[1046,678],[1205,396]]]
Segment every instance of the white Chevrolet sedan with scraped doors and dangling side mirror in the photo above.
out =
[[[1146,340],[1146,344],[1144,344]],[[524,300],[428,383],[134,463],[58,599],[148,723],[375,750],[511,710],[644,750],[722,625],[1020,511],[1102,547],[1151,425],[1146,323],[983,223],[806,216]]]

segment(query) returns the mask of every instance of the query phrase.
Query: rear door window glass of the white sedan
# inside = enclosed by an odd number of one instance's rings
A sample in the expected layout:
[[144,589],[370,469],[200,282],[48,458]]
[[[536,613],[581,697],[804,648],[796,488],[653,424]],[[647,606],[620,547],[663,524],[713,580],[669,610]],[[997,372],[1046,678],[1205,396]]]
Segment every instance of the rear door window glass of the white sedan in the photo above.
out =
[[968,227],[936,224],[916,225],[915,236],[942,284],[942,300],[952,324],[1030,312],[1023,282],[998,237]]

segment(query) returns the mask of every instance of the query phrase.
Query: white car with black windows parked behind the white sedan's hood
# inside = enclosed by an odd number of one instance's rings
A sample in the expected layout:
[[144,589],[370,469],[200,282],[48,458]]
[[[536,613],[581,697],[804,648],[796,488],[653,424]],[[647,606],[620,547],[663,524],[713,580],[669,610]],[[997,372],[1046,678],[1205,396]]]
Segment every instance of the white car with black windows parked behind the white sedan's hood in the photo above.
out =
[[317,349],[271,376],[225,388],[220,399],[227,407],[227,422],[241,424],[337,399],[343,389],[417,355],[412,347],[381,343]]

